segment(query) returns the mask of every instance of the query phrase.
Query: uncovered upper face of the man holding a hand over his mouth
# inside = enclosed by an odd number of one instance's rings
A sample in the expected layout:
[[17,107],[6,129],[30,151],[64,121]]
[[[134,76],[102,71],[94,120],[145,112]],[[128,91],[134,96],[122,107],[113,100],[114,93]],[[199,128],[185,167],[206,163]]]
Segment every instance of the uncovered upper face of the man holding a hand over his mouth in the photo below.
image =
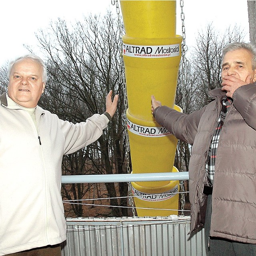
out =
[[256,70],[252,69],[252,55],[248,50],[239,49],[227,52],[222,61],[222,76],[235,76],[246,82],[251,76],[251,82],[256,80]]

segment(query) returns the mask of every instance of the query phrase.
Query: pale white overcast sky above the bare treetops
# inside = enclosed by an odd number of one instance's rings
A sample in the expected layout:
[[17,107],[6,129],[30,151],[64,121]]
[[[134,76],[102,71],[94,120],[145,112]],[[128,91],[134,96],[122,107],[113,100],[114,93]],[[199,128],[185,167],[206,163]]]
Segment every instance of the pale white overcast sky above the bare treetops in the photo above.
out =
[[[119,2],[119,1],[118,1]],[[177,30],[181,34],[180,1],[177,0]],[[47,28],[50,21],[64,18],[68,22],[81,20],[83,16],[104,14],[111,10],[116,14],[110,0],[12,0],[4,1],[0,8],[0,65],[28,53],[23,44],[33,48],[37,44],[35,32]],[[212,23],[216,30],[223,32],[235,24],[247,33],[249,23],[247,1],[240,0],[184,0],[186,44],[189,49],[195,44],[198,31]],[[43,56],[40,56],[43,58]]]

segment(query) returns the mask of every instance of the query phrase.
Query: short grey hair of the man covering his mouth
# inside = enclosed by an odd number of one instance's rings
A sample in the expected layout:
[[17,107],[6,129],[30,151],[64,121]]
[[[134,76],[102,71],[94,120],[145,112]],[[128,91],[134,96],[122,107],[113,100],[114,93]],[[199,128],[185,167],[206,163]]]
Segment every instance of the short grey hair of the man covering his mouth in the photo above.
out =
[[231,52],[234,50],[244,49],[247,50],[250,54],[252,54],[252,69],[256,69],[256,46],[252,43],[244,43],[244,42],[232,42],[227,44],[222,50],[222,61],[227,52]]

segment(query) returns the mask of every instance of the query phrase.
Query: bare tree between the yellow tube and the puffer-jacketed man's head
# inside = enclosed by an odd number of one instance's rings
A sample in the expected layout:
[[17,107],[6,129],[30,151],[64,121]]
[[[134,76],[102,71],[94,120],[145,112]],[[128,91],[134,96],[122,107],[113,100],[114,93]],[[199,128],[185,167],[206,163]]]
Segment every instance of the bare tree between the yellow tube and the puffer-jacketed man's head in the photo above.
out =
[[196,74],[197,106],[202,108],[209,101],[208,92],[221,86],[222,49],[226,44],[234,41],[242,41],[244,32],[236,26],[228,28],[224,34],[217,33],[212,24],[201,31],[196,40],[196,46],[192,53],[190,63],[193,63],[193,71]]

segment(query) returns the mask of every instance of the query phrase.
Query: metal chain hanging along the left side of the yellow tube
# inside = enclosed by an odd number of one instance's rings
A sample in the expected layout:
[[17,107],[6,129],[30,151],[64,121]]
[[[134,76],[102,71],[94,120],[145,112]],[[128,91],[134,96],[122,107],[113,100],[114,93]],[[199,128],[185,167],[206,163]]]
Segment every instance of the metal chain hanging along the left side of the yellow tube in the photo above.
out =
[[[130,141],[129,141],[129,136],[128,136],[128,131],[127,131],[127,117],[126,117],[126,110],[128,108],[128,100],[127,100],[127,92],[126,92],[126,80],[125,80],[125,71],[124,71],[124,59],[123,59],[123,41],[122,41],[122,32],[123,32],[123,23],[120,18],[120,8],[118,5],[118,1],[111,1],[112,5],[116,5],[116,14],[118,16],[118,29],[119,29],[119,46],[118,48],[120,49],[120,65],[119,65],[119,71],[118,71],[118,76],[119,76],[119,83],[122,84],[122,89],[123,89],[123,94],[124,94],[124,113],[122,114],[122,120],[123,120],[123,125],[125,127],[124,129],[124,136],[125,136],[125,156],[126,156],[126,172],[130,173]],[[135,216],[135,207],[134,207],[134,200],[133,200],[133,194],[132,194],[132,184],[128,182],[128,203],[132,207],[132,215]]]

